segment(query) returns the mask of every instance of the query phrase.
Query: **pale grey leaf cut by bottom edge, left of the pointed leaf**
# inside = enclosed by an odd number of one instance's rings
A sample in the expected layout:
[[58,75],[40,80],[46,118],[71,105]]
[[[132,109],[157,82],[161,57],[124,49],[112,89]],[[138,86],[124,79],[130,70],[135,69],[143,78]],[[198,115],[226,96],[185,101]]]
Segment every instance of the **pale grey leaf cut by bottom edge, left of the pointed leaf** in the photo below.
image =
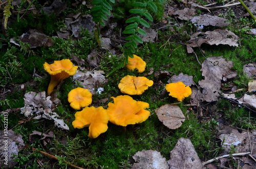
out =
[[160,152],[154,150],[142,150],[137,152],[133,159],[136,163],[133,164],[132,169],[167,169],[169,168],[165,158]]

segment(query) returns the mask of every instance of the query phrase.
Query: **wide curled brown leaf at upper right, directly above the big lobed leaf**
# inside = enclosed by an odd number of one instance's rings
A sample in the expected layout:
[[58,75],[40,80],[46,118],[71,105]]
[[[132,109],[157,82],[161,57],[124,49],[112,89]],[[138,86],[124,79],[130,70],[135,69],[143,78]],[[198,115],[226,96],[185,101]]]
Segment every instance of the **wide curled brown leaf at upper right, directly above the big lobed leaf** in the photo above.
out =
[[209,45],[228,44],[229,46],[238,46],[238,36],[228,30],[216,29],[214,31],[196,32],[190,36],[187,44],[187,53],[193,53],[192,47],[199,47],[206,43]]

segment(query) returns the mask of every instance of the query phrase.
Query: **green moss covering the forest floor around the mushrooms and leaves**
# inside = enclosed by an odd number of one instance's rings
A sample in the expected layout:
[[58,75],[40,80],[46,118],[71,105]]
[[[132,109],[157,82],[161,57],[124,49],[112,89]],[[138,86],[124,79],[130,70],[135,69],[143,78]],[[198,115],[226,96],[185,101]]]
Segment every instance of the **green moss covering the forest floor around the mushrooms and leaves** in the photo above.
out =
[[[37,2],[37,1],[36,1]],[[120,1],[125,3],[126,1]],[[127,3],[127,2],[126,2]],[[39,6],[39,4],[36,4]],[[82,6],[82,5],[81,5]],[[68,8],[64,14],[72,12],[88,13],[88,9],[81,9],[81,6],[73,7],[68,3]],[[129,6],[117,6],[113,10],[117,23],[122,24],[122,18],[127,15]],[[232,10],[232,9],[230,9]],[[159,14],[160,15],[160,14]],[[160,20],[160,16],[155,16]],[[247,88],[249,79],[243,73],[243,65],[255,63],[255,35],[248,35],[246,32],[249,28],[254,28],[253,21],[250,18],[236,19],[229,14],[231,25],[228,30],[233,31],[239,36],[239,46],[230,47],[227,45],[202,45],[201,50],[195,49],[197,57],[193,54],[187,54],[186,46],[182,42],[189,40],[190,31],[195,28],[188,23],[182,26],[175,25],[173,29],[166,29],[165,32],[159,32],[159,38],[156,43],[148,42],[139,45],[136,55],[146,61],[147,66],[144,73],[139,74],[137,71],[131,71],[126,68],[118,69],[107,77],[108,83],[102,87],[104,91],[101,94],[93,95],[94,101],[109,98],[102,106],[106,108],[112,96],[121,95],[117,87],[119,81],[125,75],[144,76],[150,73],[150,69],[166,70],[173,75],[193,76],[196,84],[202,80],[201,65],[205,58],[211,56],[223,56],[234,63],[234,69],[238,76],[232,79],[237,88]],[[156,19],[156,21],[157,21]],[[172,22],[177,22],[170,18]],[[113,68],[120,62],[120,55],[112,55],[110,51],[102,50],[97,44],[97,39],[89,31],[83,30],[78,39],[60,39],[54,37],[55,44],[50,47],[37,47],[30,49],[26,44],[16,46],[10,43],[10,38],[18,37],[29,29],[39,29],[48,36],[56,36],[56,31],[63,25],[63,18],[54,15],[34,16],[28,12],[19,22],[15,21],[9,26],[6,33],[3,33],[1,39],[2,47],[0,50],[0,111],[24,107],[24,94],[29,91],[46,91],[50,82],[50,76],[42,66],[45,62],[52,63],[54,60],[71,59],[75,55],[81,59],[87,59],[92,50],[96,50],[100,55],[99,69],[108,75]],[[248,29],[245,29],[248,28]],[[169,38],[173,37],[173,38]],[[116,48],[117,50],[117,48]],[[117,51],[120,53],[120,51]],[[111,55],[111,57],[109,57]],[[87,70],[92,70],[87,62],[82,65]],[[34,76],[35,73],[38,76]],[[72,79],[64,80],[59,91],[58,98],[61,104],[55,110],[57,114],[64,119],[70,130],[65,131],[54,127],[52,120],[33,120],[20,123],[25,120],[24,114],[20,111],[10,111],[8,115],[8,129],[23,136],[25,144],[29,148],[19,151],[17,156],[18,163],[15,168],[71,168],[68,163],[83,168],[130,168],[133,164],[132,156],[142,150],[157,150],[167,160],[169,152],[174,148],[177,140],[181,137],[189,138],[193,143],[198,156],[202,161],[218,156],[222,149],[220,142],[217,141],[218,120],[225,120],[226,124],[241,128],[255,129],[255,115],[244,107],[238,107],[228,100],[219,99],[217,110],[211,114],[200,116],[196,110],[190,108],[189,98],[182,103],[177,104],[185,117],[182,126],[175,130],[165,127],[158,119],[155,110],[167,103],[177,103],[177,100],[170,97],[165,92],[164,85],[168,77],[159,79],[155,74],[147,75],[155,84],[148,88],[143,94],[132,96],[134,100],[143,101],[150,104],[150,117],[141,124],[127,126],[123,128],[111,123],[108,124],[108,131],[99,137],[92,139],[88,137],[89,129],[74,129],[72,122],[75,119],[76,110],[72,109],[67,101],[68,93],[71,89],[77,87],[73,84]],[[20,84],[25,84],[24,89],[20,89]],[[228,84],[227,84],[228,85]],[[244,91],[236,93],[241,96]],[[93,105],[92,105],[93,106]],[[0,115],[4,120],[3,114]],[[4,129],[4,124],[0,124],[0,130]],[[32,131],[48,132],[53,131],[54,137],[44,146],[40,136],[34,136],[33,140],[29,139]],[[42,155],[39,151],[46,152],[57,157],[53,159],[47,155]],[[40,161],[40,162],[38,162]]]

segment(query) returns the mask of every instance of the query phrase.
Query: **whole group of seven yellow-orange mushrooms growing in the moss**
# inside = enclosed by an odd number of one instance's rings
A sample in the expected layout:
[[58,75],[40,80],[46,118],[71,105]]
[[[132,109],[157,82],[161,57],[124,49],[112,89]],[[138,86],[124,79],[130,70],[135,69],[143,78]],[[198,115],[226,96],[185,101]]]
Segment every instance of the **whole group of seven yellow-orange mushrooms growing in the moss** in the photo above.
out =
[[[129,57],[128,69],[137,69],[138,73],[143,73],[146,67],[146,62],[139,56],[134,55],[134,58]],[[44,68],[51,75],[51,81],[48,87],[48,94],[62,80],[75,75],[77,66],[69,59],[54,61],[52,64],[45,62]],[[135,77],[127,75],[123,77],[118,84],[118,88],[125,95],[119,95],[116,98],[112,97],[114,103],[109,103],[108,108],[102,106],[94,107],[92,103],[92,93],[88,89],[77,87],[72,89],[68,94],[70,106],[75,110],[80,110],[75,113],[75,120],[72,122],[74,128],[81,129],[89,126],[89,137],[96,138],[101,133],[108,130],[108,122],[118,126],[134,125],[144,122],[149,116],[150,111],[145,110],[150,105],[146,102],[135,101],[130,95],[140,95],[148,87],[154,84],[152,80],[146,77]],[[166,90],[169,95],[182,101],[185,97],[191,94],[191,89],[182,82],[170,83],[166,85]]]

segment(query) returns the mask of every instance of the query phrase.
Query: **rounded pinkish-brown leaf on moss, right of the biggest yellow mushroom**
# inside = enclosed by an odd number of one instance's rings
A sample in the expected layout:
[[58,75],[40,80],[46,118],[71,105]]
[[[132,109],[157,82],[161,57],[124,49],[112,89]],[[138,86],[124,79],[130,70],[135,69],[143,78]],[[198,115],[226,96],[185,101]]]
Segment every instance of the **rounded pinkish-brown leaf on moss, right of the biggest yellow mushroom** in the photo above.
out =
[[158,119],[163,122],[163,125],[169,129],[177,129],[185,121],[179,106],[165,104],[156,110]]

